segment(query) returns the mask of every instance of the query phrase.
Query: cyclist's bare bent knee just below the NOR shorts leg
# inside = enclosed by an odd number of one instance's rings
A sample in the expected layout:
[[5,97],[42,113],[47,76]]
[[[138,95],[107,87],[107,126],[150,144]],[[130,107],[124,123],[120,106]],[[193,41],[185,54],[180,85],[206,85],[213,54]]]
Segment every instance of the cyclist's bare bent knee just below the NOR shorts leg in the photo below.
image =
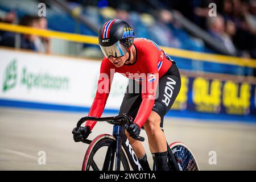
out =
[[160,129],[161,117],[158,114],[150,114],[147,121],[144,123],[144,129],[147,134],[154,135]]

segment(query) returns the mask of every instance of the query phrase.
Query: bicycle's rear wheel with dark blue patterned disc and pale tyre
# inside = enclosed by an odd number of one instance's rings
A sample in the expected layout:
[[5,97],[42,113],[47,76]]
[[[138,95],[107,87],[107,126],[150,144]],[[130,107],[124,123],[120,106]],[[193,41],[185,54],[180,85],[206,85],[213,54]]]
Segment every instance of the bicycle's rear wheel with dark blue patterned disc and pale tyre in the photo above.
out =
[[169,147],[175,156],[180,171],[199,171],[196,158],[188,146],[182,142],[174,142]]

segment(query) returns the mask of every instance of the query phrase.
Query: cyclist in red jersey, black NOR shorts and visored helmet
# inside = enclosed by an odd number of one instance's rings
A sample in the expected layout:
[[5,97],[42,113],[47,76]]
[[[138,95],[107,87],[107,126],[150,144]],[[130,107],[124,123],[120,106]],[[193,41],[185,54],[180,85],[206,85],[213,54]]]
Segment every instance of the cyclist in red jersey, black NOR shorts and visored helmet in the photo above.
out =
[[[146,152],[138,137],[144,127],[156,169],[167,170],[167,142],[163,133],[163,118],[170,110],[180,90],[180,73],[176,63],[148,39],[134,38],[133,28],[123,20],[106,22],[99,31],[98,41],[104,53],[97,93],[89,116],[101,117],[114,72],[129,78],[129,84],[119,114],[127,113],[134,122],[126,127],[126,136],[144,170],[150,170]],[[102,86],[103,85],[103,86]],[[96,121],[74,128],[75,142],[85,140]]]

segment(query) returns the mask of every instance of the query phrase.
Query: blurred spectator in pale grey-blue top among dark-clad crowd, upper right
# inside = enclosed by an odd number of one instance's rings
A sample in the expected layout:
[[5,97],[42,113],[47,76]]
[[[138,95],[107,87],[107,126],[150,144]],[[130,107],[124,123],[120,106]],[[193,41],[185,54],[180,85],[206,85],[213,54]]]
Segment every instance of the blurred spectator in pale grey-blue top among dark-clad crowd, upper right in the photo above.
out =
[[231,55],[236,53],[236,48],[230,39],[229,34],[225,32],[225,23],[221,15],[209,17],[207,19],[209,33],[218,41],[220,41]]

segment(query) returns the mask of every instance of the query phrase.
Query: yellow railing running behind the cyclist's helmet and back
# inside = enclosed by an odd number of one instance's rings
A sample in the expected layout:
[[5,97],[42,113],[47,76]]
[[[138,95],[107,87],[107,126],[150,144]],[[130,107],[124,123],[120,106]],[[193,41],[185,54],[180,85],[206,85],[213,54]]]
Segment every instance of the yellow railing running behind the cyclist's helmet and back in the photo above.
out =
[[[70,34],[70,33],[64,33],[59,31],[51,31],[51,30],[41,30],[38,28],[19,26],[16,24],[0,23],[0,30],[16,32],[21,34],[33,34],[33,35],[44,36],[48,38],[63,39],[63,40],[79,42],[79,43],[98,44],[98,38],[96,36]],[[212,53],[187,51],[183,49],[170,48],[170,47],[162,47],[162,48],[169,55],[175,56],[175,57],[193,59],[198,61],[208,61],[212,63],[231,64],[231,65],[239,65],[243,67],[256,68],[255,59],[244,59],[240,57],[216,55]]]

